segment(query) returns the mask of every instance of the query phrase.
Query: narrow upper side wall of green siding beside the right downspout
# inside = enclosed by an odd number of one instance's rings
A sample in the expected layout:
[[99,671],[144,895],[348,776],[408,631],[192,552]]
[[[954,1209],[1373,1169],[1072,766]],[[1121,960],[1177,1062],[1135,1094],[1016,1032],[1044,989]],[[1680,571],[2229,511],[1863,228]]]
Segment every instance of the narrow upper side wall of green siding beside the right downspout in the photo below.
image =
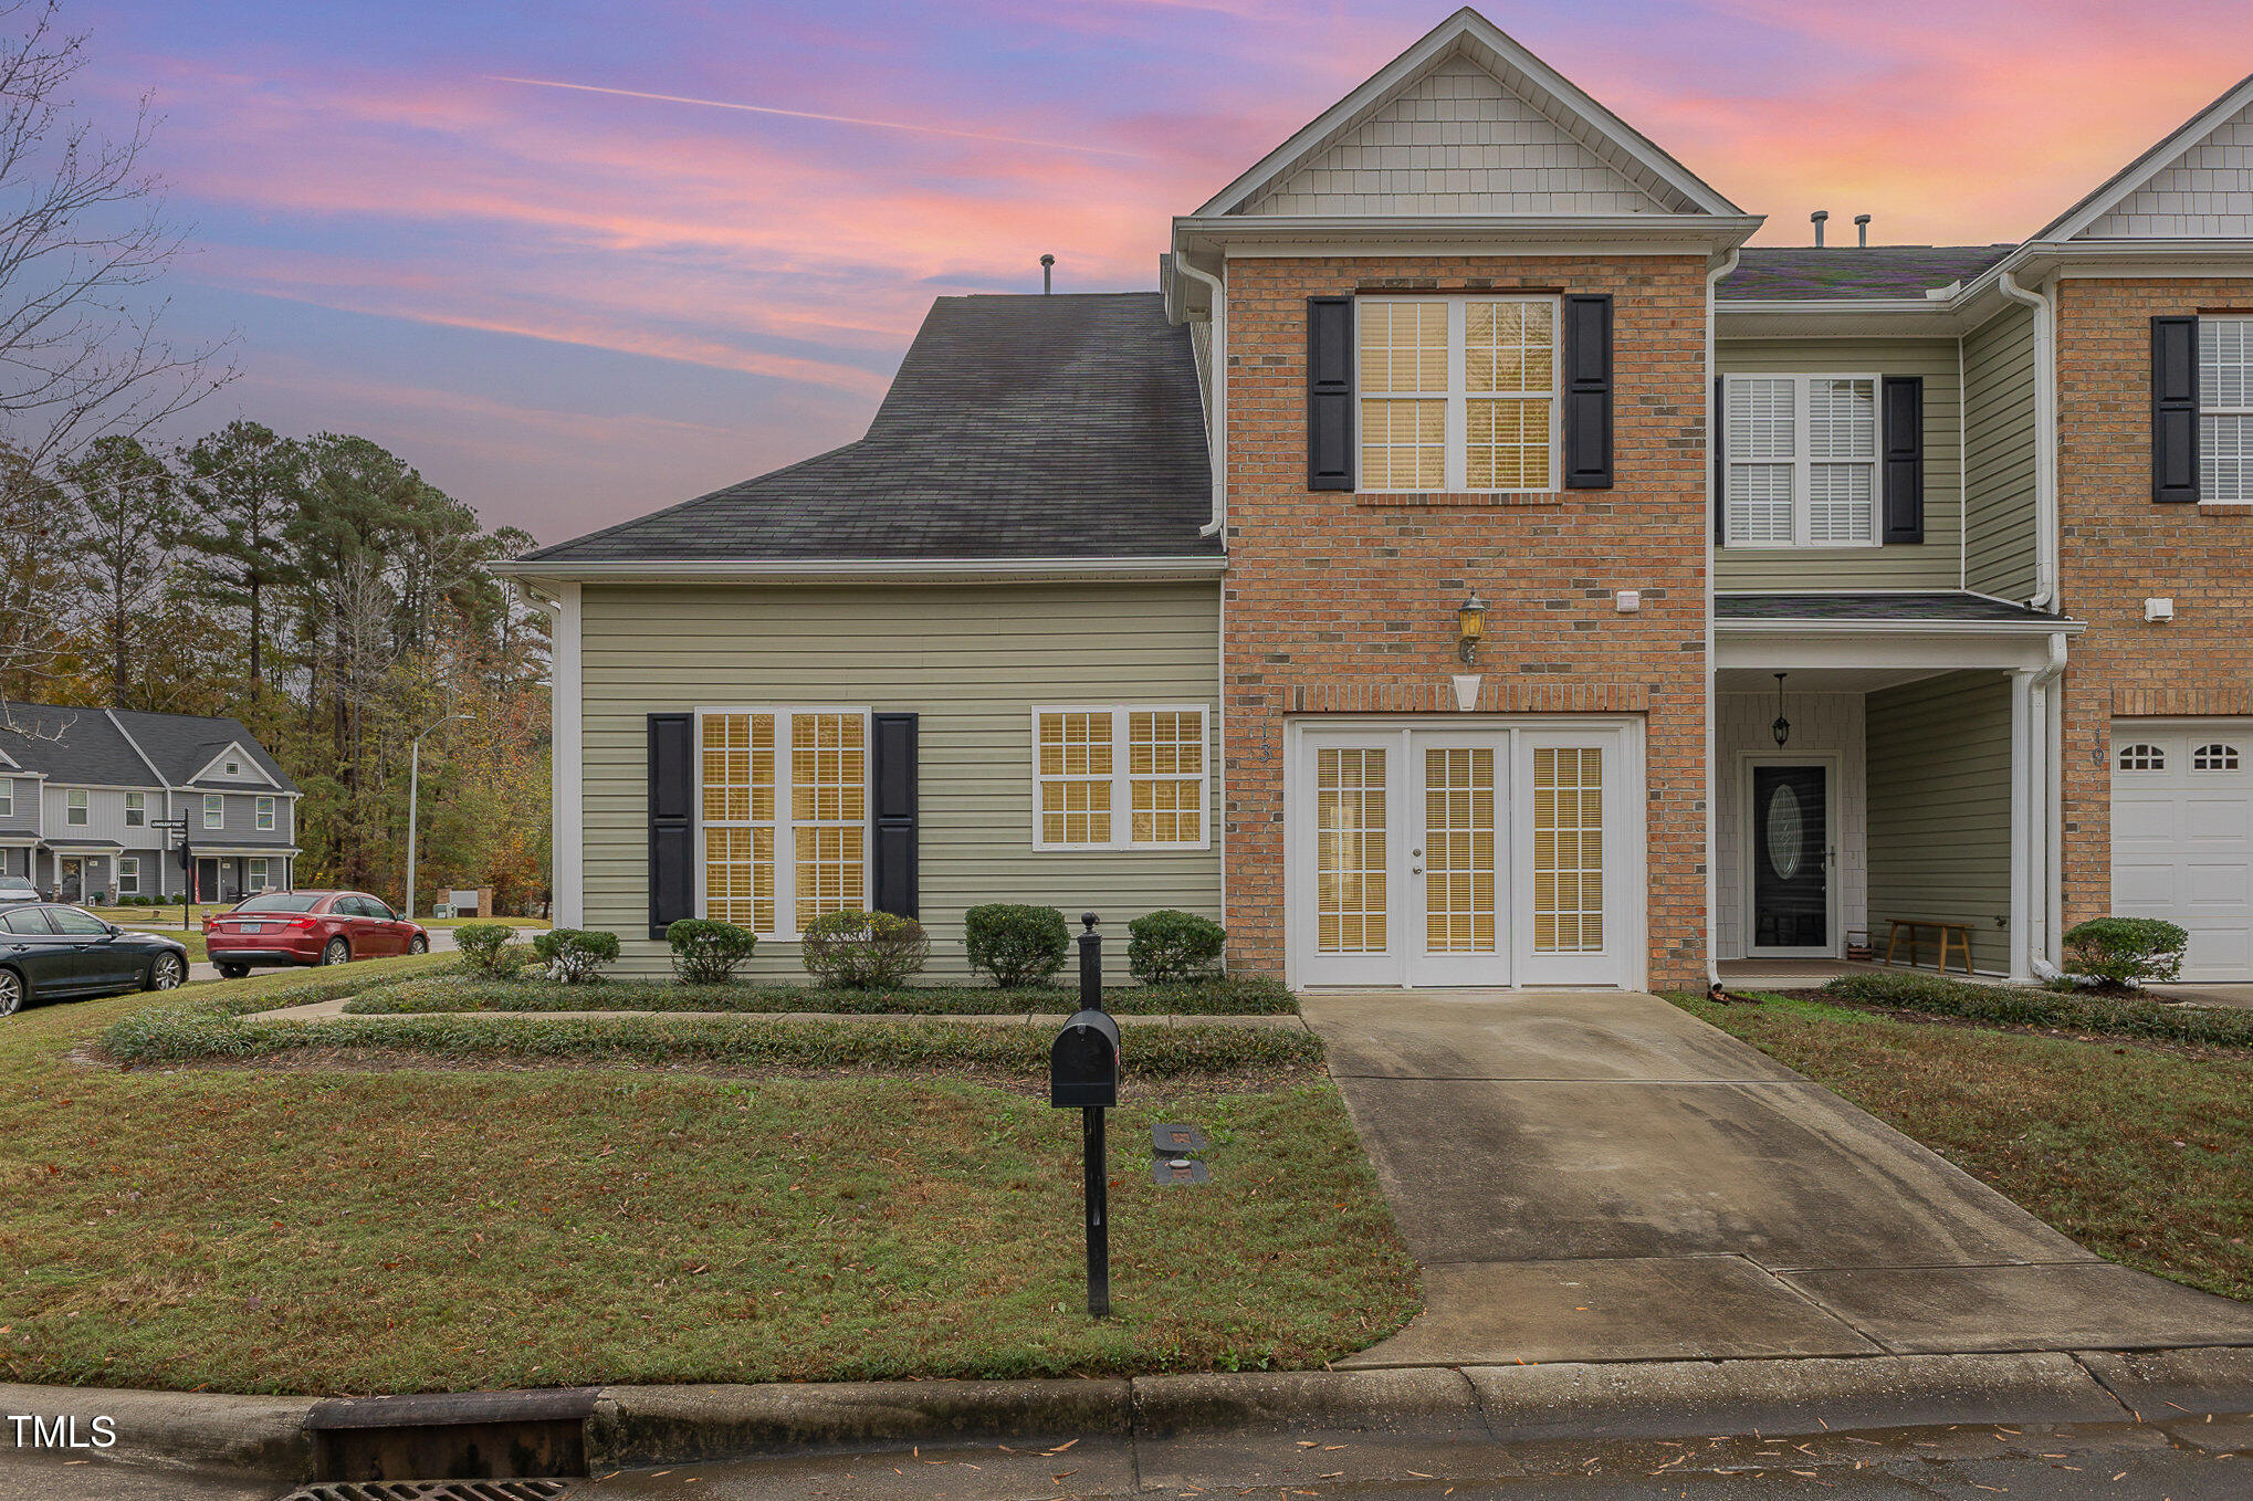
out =
[[1965,336],[1965,584],[2034,593],[2034,309]]

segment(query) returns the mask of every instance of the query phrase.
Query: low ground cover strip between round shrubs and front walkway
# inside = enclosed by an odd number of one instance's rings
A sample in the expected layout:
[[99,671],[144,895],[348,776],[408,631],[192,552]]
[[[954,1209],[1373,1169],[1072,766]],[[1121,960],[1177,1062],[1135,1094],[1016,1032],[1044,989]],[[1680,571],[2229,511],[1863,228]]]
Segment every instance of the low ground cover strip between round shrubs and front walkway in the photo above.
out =
[[[1185,985],[1113,985],[1104,1005],[1122,1016],[1289,1016],[1298,998],[1275,980],[1201,980]],[[1079,1010],[1079,992],[1059,985],[996,989],[991,985],[901,985],[892,989],[816,989],[811,985],[674,985],[669,980],[482,980],[469,974],[385,987],[360,996],[356,1014],[379,1012],[845,1012],[976,1016],[1000,1012]]]

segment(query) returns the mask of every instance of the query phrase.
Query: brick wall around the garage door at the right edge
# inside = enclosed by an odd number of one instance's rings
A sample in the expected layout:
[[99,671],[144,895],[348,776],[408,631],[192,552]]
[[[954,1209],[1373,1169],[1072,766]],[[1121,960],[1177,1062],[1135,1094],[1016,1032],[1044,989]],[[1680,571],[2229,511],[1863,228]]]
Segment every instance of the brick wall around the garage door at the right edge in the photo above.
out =
[[[2244,714],[2253,512],[2152,503],[2152,318],[2253,309],[2253,279],[2068,279],[2057,291],[2059,597],[2089,622],[2066,667],[2064,915],[2111,906],[2116,717]],[[2145,624],[2149,595],[2174,597]]]

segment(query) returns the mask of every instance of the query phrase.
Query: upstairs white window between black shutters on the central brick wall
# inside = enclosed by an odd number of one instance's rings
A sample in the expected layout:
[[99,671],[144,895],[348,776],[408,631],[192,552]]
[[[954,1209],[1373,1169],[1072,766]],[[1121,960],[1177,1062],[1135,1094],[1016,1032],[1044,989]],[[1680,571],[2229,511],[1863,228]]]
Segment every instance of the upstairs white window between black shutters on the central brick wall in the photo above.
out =
[[1555,297],[1361,297],[1361,489],[1557,489]]

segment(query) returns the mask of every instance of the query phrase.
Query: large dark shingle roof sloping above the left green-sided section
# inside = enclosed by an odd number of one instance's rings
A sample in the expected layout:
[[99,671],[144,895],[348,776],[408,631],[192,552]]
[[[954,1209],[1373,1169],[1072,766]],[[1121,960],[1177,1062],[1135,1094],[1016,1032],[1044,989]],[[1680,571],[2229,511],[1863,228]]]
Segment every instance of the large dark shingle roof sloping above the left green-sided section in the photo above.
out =
[[1219,557],[1210,473],[1158,293],[940,297],[861,442],[523,561]]

